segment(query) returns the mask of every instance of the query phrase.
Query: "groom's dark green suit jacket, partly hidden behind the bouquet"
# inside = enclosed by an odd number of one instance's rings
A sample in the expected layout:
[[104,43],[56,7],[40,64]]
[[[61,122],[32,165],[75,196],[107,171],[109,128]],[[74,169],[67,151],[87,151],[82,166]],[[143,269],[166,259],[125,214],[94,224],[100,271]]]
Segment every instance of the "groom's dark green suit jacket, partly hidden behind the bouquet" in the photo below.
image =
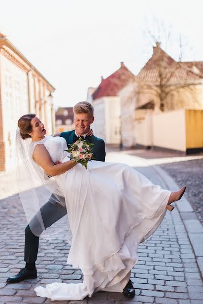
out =
[[[69,143],[73,143],[73,136],[74,136],[75,130],[68,131],[68,132],[62,132],[60,134],[61,137],[65,138],[67,145]],[[96,161],[105,162],[106,157],[106,151],[105,151],[105,142],[103,139],[98,138],[94,135],[88,136],[86,135],[85,140],[88,143],[93,143],[93,156]]]

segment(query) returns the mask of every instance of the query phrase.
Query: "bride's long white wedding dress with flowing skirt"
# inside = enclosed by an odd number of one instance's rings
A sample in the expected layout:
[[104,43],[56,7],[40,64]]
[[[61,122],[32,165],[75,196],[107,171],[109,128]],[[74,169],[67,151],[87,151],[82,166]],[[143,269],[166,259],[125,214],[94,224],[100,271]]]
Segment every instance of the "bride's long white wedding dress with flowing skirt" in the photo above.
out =
[[[45,137],[53,162],[66,162],[66,141]],[[98,291],[122,292],[138,261],[138,246],[159,226],[171,192],[126,164],[92,161],[54,177],[65,197],[73,234],[67,264],[80,268],[83,283],[35,288],[51,300],[81,300]]]

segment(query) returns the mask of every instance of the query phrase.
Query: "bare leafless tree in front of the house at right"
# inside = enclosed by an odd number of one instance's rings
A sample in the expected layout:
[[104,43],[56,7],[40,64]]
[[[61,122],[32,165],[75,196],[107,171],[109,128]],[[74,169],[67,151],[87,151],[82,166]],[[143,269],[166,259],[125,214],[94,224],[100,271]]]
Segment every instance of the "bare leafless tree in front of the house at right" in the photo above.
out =
[[194,86],[199,84],[201,75],[182,64],[184,44],[181,35],[179,39],[172,41],[178,45],[177,60],[162,49],[162,45],[167,49],[172,40],[171,26],[166,27],[163,22],[154,19],[154,26],[146,27],[145,37],[151,47],[153,46],[154,53],[136,78],[139,84],[138,93],[154,95],[159,100],[160,109],[164,111],[166,99],[170,94],[173,96],[173,92],[178,95],[181,89],[186,89],[194,95]]

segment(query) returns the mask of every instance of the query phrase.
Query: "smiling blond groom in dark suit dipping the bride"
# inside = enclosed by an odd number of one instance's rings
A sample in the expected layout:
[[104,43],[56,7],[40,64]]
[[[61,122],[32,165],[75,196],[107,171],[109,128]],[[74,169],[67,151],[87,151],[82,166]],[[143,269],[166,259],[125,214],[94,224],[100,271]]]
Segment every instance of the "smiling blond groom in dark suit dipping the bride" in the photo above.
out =
[[[63,137],[67,144],[72,144],[77,141],[80,137],[85,139],[88,143],[93,143],[93,156],[96,161],[105,162],[105,142],[103,139],[97,138],[94,135],[89,136],[87,133],[90,130],[90,125],[94,121],[93,106],[89,102],[79,102],[74,108],[74,124],[75,130],[69,132],[62,132],[55,134],[54,136]],[[64,198],[60,198],[64,200]],[[41,208],[41,215],[45,229],[50,227],[57,220],[67,214],[66,207],[63,207],[58,199],[52,194],[49,201]],[[32,225],[38,225],[37,216],[32,219]],[[43,231],[42,231],[43,232]],[[25,248],[24,248],[24,260],[26,262],[25,268],[21,269],[20,272],[7,279],[7,283],[18,283],[25,279],[37,278],[36,260],[39,249],[39,237],[33,235],[29,225],[25,229]],[[131,281],[128,282],[123,290],[123,294],[127,297],[134,296],[134,288]]]

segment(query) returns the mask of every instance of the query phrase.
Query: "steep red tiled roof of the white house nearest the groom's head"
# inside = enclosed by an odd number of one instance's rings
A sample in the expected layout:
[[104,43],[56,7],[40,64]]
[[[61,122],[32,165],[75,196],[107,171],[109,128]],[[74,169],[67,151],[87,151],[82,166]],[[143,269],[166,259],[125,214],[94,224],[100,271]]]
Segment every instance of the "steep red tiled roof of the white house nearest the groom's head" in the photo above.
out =
[[96,91],[92,94],[93,100],[104,96],[117,96],[134,75],[121,63],[121,67],[106,79],[102,79]]

